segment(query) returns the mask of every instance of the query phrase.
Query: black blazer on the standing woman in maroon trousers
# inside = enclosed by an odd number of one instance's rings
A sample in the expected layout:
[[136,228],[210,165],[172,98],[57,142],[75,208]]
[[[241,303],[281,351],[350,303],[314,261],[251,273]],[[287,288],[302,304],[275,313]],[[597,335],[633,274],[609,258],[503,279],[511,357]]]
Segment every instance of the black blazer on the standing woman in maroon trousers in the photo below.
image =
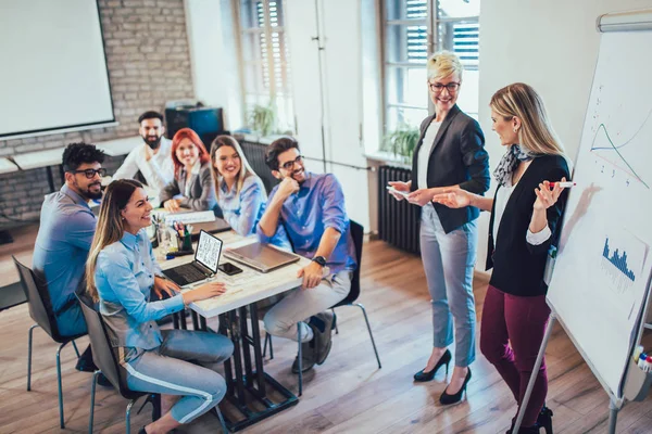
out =
[[546,155],[535,158],[507,201],[499,224],[498,240],[493,240],[494,209],[491,209],[487,269],[493,267],[489,280],[492,286],[519,296],[544,295],[548,292],[548,285],[543,282],[546,259],[550,245],[559,239],[567,191],[564,190],[559,201],[546,213],[552,235],[539,245],[529,244],[525,237],[532,218],[532,205],[537,200],[535,189],[544,180],[559,181],[562,177],[570,178],[564,157]]

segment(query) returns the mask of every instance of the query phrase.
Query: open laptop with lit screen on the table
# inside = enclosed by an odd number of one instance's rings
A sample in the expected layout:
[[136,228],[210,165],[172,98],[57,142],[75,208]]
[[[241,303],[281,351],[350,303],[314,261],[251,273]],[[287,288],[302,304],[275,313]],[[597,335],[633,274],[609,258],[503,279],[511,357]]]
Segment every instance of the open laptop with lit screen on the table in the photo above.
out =
[[221,252],[222,240],[202,230],[199,233],[195,260],[163,270],[163,273],[179,286],[209,279],[217,272]]

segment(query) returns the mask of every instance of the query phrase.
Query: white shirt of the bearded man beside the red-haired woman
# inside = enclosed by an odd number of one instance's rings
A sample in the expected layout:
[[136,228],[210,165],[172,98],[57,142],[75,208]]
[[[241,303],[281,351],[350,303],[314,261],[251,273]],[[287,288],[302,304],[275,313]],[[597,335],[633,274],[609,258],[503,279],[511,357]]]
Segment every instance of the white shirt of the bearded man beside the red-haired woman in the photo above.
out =
[[[174,164],[172,163],[172,141],[161,138],[159,152],[149,162],[145,157],[147,143],[136,146],[125,158],[123,165],[115,171],[113,179],[134,178],[138,170],[145,177],[147,184],[160,193],[174,180]],[[159,194],[156,194],[159,195]]]

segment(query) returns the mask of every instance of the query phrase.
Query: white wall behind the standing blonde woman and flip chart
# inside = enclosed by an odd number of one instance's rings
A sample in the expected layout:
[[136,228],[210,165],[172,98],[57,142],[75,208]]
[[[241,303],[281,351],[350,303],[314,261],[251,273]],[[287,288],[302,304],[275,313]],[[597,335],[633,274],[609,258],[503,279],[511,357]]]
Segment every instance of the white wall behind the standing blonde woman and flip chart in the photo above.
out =
[[[598,60],[595,20],[607,12],[650,7],[651,0],[482,0],[479,122],[491,170],[503,154],[491,131],[488,103],[493,92],[515,81],[537,89],[568,155],[575,159]],[[626,71],[627,65],[623,65],[625,80]],[[489,222],[487,213],[482,214],[478,269],[485,265]]]

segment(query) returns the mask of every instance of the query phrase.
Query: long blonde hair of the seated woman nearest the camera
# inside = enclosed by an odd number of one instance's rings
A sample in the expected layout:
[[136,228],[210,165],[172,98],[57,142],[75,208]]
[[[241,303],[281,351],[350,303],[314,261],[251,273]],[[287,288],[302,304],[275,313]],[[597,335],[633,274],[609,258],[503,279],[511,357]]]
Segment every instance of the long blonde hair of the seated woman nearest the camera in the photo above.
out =
[[111,182],[104,191],[96,234],[86,261],[86,291],[96,303],[100,299],[95,281],[98,256],[104,247],[122,240],[125,227],[120,213],[127,206],[136,189],[141,188],[142,184],[136,180],[120,179]]

